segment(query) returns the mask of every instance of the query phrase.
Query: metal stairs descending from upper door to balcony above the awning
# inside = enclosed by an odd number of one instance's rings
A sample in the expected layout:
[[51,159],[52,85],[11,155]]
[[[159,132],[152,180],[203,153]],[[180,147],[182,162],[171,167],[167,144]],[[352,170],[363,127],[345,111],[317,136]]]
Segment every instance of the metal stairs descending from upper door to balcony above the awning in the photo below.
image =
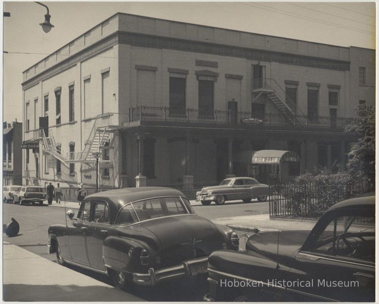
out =
[[274,79],[259,78],[254,80],[252,93],[252,102],[257,100],[262,94],[265,94],[289,122],[305,125],[301,119],[301,117],[305,117],[305,114]]

